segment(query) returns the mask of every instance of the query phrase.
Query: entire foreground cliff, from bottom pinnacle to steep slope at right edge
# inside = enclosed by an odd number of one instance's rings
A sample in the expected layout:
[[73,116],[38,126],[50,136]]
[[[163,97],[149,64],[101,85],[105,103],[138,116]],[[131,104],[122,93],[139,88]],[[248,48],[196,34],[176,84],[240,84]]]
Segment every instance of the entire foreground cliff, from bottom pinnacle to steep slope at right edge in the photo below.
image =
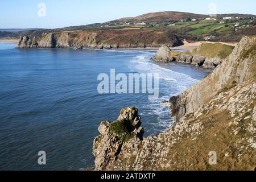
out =
[[[255,36],[243,38],[211,75],[172,97],[170,107],[176,123],[164,133],[142,139],[143,133],[138,132],[139,137],[129,135],[124,140],[110,130],[111,123],[101,123],[101,135],[94,141],[95,169],[254,170],[255,44]],[[125,109],[125,115],[134,115],[134,110],[137,114],[137,109]],[[217,158],[214,164],[209,162],[213,153]]]

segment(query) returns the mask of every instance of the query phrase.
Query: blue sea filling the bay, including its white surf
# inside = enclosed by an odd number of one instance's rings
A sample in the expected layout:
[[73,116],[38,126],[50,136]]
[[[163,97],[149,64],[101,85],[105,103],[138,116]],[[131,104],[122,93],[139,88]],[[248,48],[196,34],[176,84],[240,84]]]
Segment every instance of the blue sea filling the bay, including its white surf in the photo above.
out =
[[[0,169],[79,170],[92,167],[93,139],[102,120],[137,106],[145,136],[166,130],[172,119],[160,101],[201,80],[209,71],[191,65],[154,64],[155,51],[15,49],[0,42]],[[160,98],[147,94],[98,94],[97,76],[159,73]],[[174,71],[172,71],[172,70]],[[38,165],[46,151],[47,165]]]

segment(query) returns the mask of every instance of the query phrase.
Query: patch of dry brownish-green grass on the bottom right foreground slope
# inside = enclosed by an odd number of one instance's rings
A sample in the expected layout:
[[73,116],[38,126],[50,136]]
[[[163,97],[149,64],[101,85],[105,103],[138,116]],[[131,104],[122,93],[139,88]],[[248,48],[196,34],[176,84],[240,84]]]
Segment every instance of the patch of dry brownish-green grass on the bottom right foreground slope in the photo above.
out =
[[[249,133],[243,132],[241,136],[233,135],[232,117],[228,110],[210,110],[208,114],[202,115],[197,122],[203,123],[204,133],[192,140],[191,133],[184,135],[180,141],[170,148],[167,155],[167,161],[171,162],[171,166],[163,168],[164,170],[253,170],[255,168],[255,151],[247,151],[240,159],[238,155],[242,152],[239,147],[246,144],[239,143],[234,146],[237,141],[247,137]],[[241,125],[241,130],[245,130],[245,125]],[[195,131],[194,131],[195,132]],[[215,151],[217,154],[217,165],[209,164],[209,152]],[[243,148],[245,151],[245,148]],[[184,160],[185,159],[185,160]],[[159,168],[160,169],[160,168]]]

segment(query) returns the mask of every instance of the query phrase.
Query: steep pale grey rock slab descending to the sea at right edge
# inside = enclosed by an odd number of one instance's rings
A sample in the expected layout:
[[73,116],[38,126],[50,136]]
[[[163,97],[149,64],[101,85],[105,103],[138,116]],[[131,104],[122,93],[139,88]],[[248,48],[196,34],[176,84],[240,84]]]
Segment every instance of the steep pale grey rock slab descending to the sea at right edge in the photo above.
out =
[[[246,36],[241,40],[231,55],[204,80],[186,90],[180,96],[170,99],[172,115],[179,121],[186,113],[196,111],[201,105],[209,102],[222,90],[255,78],[256,37]],[[245,53],[250,53],[245,57]]]

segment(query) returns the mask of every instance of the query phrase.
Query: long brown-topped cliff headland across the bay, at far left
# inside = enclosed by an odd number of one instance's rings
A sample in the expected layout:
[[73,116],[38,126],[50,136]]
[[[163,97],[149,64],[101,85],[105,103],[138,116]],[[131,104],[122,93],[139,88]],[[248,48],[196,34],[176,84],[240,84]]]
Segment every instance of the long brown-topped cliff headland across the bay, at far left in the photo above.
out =
[[20,38],[19,48],[145,48],[179,46],[182,42],[176,36],[163,31],[151,30],[106,30],[67,31],[49,33],[40,37]]

